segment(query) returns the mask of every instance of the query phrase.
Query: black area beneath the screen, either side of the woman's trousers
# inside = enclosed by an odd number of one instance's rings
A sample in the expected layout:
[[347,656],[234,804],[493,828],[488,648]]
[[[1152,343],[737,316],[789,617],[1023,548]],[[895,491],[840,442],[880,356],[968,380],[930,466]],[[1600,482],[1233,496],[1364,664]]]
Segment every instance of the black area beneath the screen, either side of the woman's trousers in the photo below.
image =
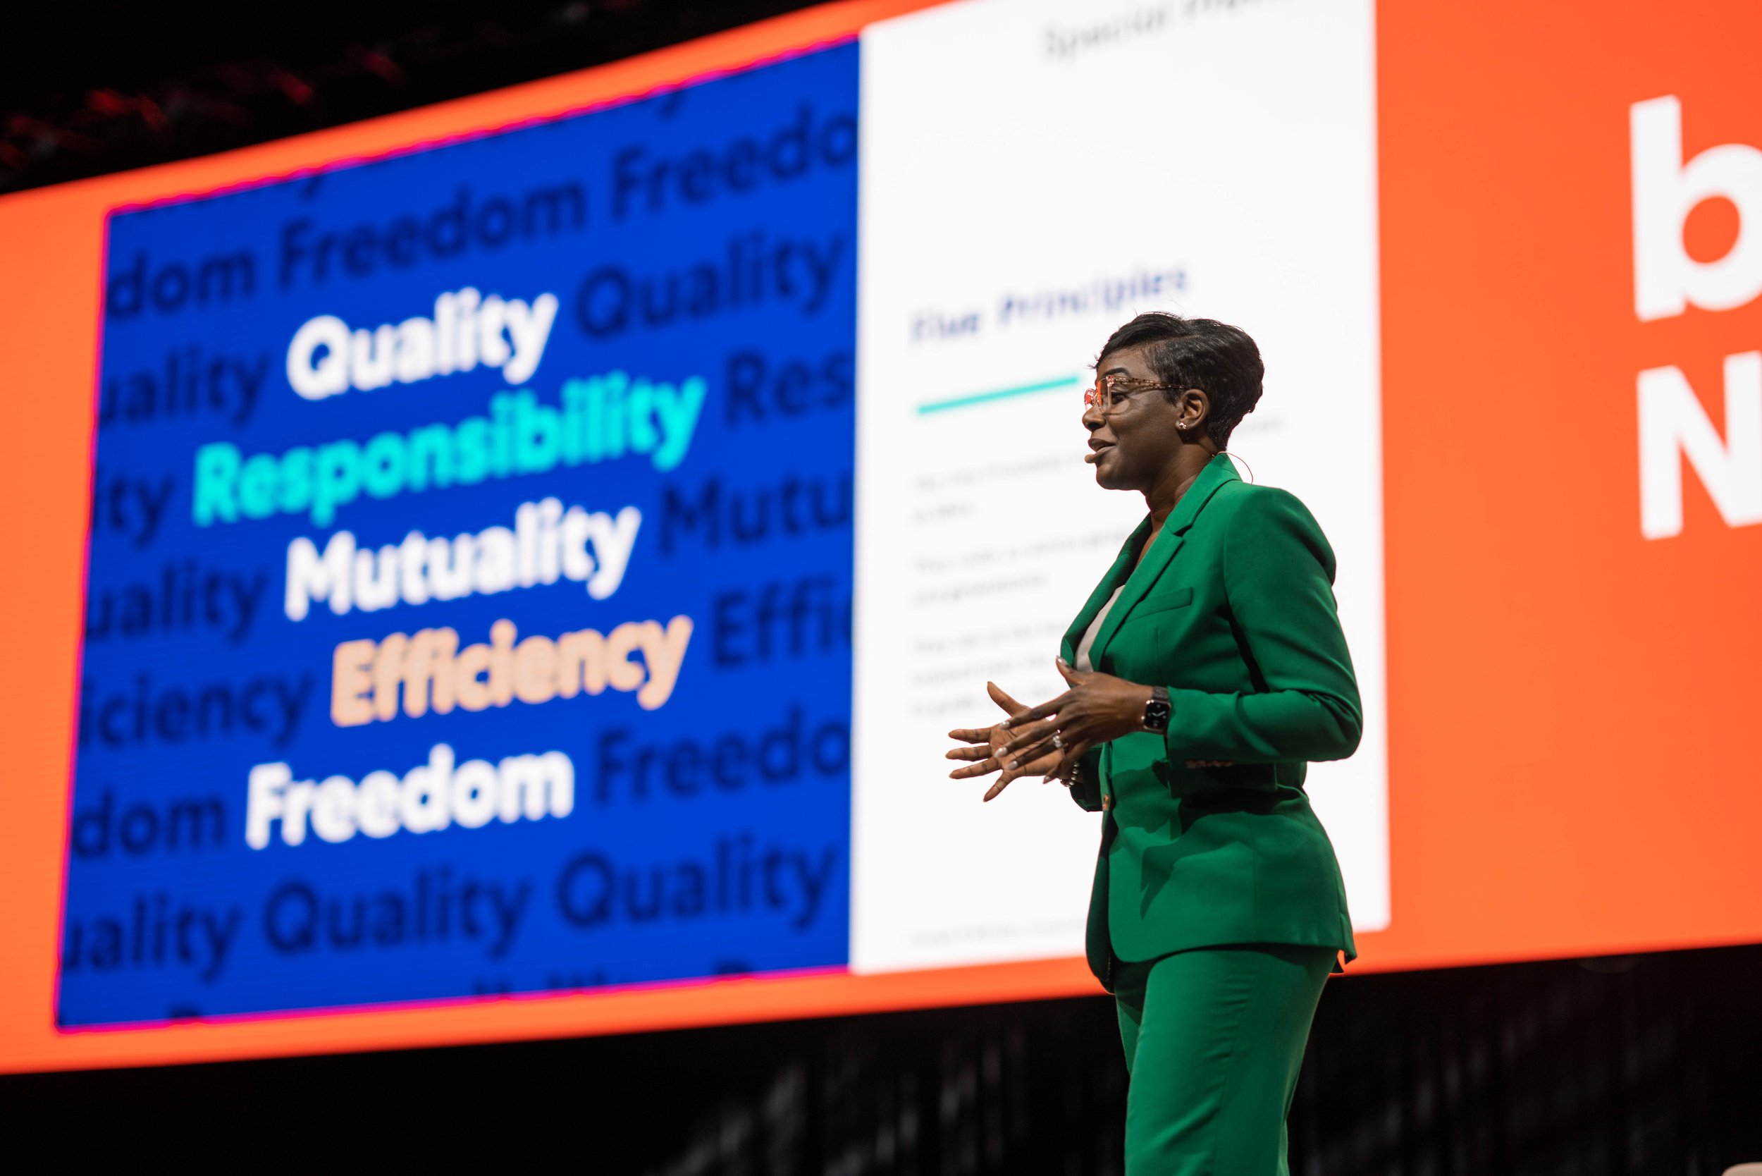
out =
[[[1332,980],[1292,1109],[1292,1172],[1718,1176],[1762,1160],[1758,973],[1762,947],[1736,947]],[[1078,998],[12,1076],[0,1146],[67,1155],[74,1171],[159,1157],[233,1171],[1101,1176],[1121,1171],[1124,1098],[1112,1003]]]

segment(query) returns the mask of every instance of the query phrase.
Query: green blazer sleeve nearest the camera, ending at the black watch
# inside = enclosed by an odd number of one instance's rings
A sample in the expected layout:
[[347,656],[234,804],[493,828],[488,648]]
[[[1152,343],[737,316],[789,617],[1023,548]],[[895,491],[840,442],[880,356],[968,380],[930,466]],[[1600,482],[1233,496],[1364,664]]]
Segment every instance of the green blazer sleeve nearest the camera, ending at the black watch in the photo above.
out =
[[1295,495],[1255,488],[1226,524],[1223,580],[1242,654],[1262,686],[1170,689],[1172,760],[1344,760],[1364,712],[1334,607],[1334,552]]

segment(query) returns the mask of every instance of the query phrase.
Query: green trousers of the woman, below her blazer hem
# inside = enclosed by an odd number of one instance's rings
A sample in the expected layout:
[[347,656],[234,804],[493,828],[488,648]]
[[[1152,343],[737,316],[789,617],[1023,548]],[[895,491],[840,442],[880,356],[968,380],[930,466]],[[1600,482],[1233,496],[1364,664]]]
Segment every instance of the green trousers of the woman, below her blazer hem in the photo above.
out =
[[1284,1116],[1325,947],[1203,947],[1114,963],[1126,1176],[1286,1176]]

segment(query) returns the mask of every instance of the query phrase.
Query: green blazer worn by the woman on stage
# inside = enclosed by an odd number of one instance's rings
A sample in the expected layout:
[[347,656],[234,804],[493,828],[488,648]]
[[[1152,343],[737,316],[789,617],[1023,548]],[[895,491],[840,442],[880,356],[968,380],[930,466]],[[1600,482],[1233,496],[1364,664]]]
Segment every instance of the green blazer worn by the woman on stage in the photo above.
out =
[[[1288,943],[1355,954],[1334,846],[1309,809],[1309,760],[1359,746],[1362,712],[1334,612],[1334,552],[1302,502],[1210,460],[1133,569],[1145,518],[1064,635],[1073,661],[1166,686],[1168,735],[1089,751],[1071,797],[1101,809],[1089,968],[1193,947]],[[1188,769],[1186,760],[1233,760]]]

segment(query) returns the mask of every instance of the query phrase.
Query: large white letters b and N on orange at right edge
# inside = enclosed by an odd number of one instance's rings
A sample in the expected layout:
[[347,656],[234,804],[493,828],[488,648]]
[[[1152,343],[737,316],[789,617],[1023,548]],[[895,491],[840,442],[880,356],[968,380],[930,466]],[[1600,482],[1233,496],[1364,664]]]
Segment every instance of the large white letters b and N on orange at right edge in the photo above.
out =
[[[1762,294],[1762,150],[1711,146],[1683,162],[1676,97],[1628,111],[1633,182],[1633,312],[1642,323],[1734,310]],[[1683,247],[1683,222],[1706,199],[1737,208],[1737,240],[1716,261]],[[1640,534],[1683,531],[1684,458],[1729,527],[1762,522],[1762,353],[1725,356],[1725,430],[1713,425],[1679,367],[1639,374]]]

